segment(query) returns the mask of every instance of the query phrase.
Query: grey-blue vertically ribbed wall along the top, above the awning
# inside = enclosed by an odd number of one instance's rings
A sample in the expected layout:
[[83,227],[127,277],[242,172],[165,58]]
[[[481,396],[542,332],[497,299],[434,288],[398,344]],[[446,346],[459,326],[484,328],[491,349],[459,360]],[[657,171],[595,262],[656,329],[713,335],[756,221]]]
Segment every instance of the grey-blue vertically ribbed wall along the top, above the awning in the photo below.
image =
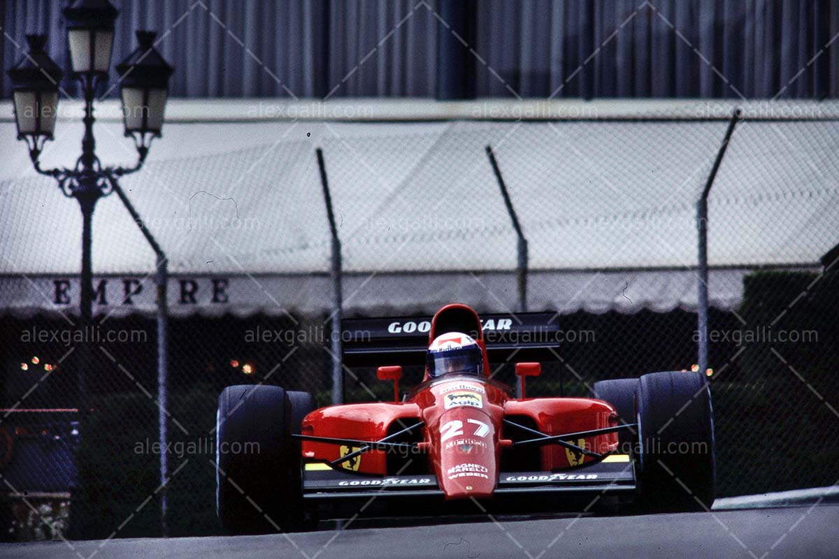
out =
[[[114,60],[134,29],[154,28],[177,68],[174,96],[433,97],[444,1],[113,0]],[[26,33],[50,34],[66,61],[64,6],[0,3],[5,69]],[[473,18],[479,97],[839,95],[828,0],[480,0]]]

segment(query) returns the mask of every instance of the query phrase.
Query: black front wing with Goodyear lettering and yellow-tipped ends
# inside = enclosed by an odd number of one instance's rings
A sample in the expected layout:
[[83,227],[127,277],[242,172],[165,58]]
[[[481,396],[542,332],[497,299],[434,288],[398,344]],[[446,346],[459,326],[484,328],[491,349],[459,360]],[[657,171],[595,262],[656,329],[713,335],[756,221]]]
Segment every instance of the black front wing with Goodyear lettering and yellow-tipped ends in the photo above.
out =
[[[494,495],[536,493],[632,493],[637,489],[633,462],[628,454],[611,454],[596,463],[560,472],[502,472]],[[434,474],[371,476],[331,468],[326,463],[306,463],[303,471],[305,499],[348,499],[378,495],[442,496]]]

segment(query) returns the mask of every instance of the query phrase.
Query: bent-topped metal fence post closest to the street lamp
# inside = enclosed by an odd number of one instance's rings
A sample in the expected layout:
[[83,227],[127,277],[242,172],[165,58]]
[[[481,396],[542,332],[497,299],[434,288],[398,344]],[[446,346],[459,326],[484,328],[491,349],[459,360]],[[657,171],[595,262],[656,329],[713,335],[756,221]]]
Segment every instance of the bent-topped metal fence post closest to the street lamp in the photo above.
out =
[[[125,192],[119,186],[115,177],[109,177],[114,192],[117,193],[122,205],[128,210],[131,219],[138,225],[146,241],[149,241],[149,246],[152,247],[156,256],[156,274],[154,282],[157,287],[157,346],[158,346],[158,442],[160,448],[168,448],[167,443],[169,435],[166,430],[166,406],[169,395],[169,343],[167,341],[169,336],[169,301],[166,294],[166,288],[169,284],[169,269],[167,267],[168,259],[163,248],[154,238],[151,231],[146,227],[143,219],[134,209],[131,200],[128,199]],[[169,462],[167,453],[160,453],[160,532],[162,536],[168,535],[166,525],[166,484],[169,478]]]

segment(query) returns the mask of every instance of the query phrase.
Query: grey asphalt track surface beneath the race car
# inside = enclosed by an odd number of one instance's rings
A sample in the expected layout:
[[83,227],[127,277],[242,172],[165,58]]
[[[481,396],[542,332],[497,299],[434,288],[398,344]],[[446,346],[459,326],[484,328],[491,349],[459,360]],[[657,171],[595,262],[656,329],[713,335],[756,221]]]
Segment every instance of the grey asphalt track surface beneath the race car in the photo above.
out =
[[505,520],[272,536],[0,545],[21,559],[839,557],[839,505],[680,515]]

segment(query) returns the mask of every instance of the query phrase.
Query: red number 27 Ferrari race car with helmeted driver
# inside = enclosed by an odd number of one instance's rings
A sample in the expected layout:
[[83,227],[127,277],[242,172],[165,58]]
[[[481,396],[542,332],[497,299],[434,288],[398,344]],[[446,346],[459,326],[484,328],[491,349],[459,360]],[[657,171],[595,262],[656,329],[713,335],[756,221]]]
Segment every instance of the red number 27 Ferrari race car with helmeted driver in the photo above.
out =
[[[540,372],[531,360],[556,346],[553,318],[482,321],[451,304],[430,320],[345,321],[345,330],[364,334],[347,336],[362,341],[345,344],[345,363],[387,363],[378,378],[393,382],[393,401],[315,409],[306,392],[227,387],[216,415],[221,524],[232,533],[301,530],[324,510],[340,517],[344,505],[373,502],[385,515],[589,510],[598,501],[638,512],[710,507],[706,377],[658,372],[596,382],[586,398],[527,398],[525,377]],[[424,355],[424,380],[400,396],[402,365]],[[513,356],[530,359],[515,365],[518,396],[492,379],[490,366]]]

